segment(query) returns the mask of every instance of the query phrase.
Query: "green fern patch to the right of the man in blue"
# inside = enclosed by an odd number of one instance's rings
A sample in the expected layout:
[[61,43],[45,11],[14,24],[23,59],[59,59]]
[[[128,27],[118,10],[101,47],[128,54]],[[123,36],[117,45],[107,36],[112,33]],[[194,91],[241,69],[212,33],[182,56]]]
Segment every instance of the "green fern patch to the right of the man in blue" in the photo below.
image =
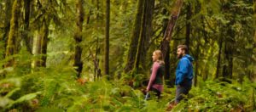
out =
[[[255,88],[252,84],[250,81],[243,84],[236,81],[233,81],[233,84],[223,81],[201,82],[201,87],[194,87],[191,90],[189,101],[179,105],[193,111],[252,111],[255,102]],[[183,109],[179,107],[177,106],[179,110]]]

